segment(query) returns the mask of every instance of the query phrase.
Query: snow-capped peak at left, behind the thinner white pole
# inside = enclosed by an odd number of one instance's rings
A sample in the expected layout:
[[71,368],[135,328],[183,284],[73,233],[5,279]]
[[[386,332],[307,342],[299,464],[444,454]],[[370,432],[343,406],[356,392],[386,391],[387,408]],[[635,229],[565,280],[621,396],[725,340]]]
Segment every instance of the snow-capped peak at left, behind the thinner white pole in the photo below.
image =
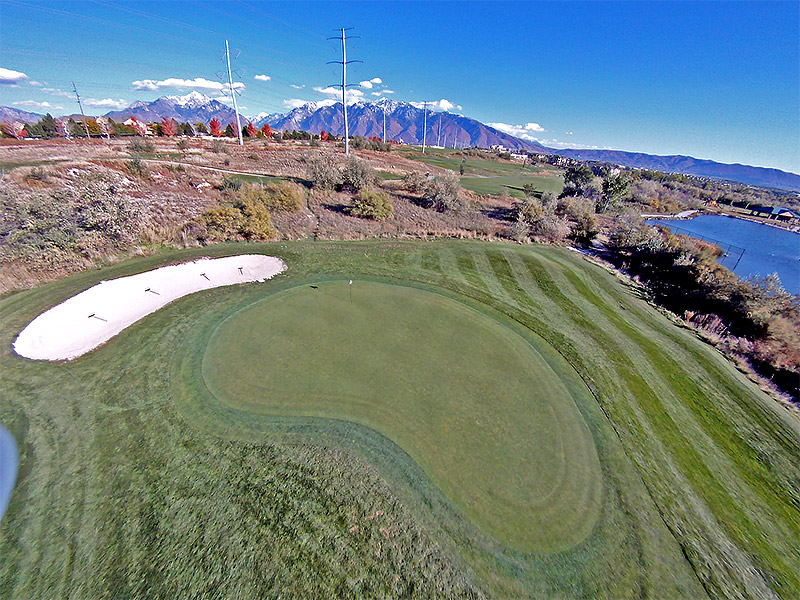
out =
[[[145,122],[160,121],[166,117],[180,122],[206,125],[211,119],[218,119],[223,126],[236,122],[236,113],[232,107],[199,92],[191,92],[185,96],[162,96],[152,102],[137,101],[128,108],[106,113],[106,116],[115,121],[136,117]],[[239,116],[244,127],[248,119],[241,114]]]

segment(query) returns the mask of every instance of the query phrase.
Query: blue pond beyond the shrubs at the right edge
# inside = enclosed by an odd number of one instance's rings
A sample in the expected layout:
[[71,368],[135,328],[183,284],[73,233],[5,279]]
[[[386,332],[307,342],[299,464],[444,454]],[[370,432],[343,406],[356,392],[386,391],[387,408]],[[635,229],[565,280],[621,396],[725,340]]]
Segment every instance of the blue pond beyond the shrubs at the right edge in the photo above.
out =
[[648,219],[645,222],[714,241],[727,250],[727,255],[720,257],[719,262],[739,277],[777,273],[786,291],[800,294],[798,233],[724,215],[700,215],[686,221]]

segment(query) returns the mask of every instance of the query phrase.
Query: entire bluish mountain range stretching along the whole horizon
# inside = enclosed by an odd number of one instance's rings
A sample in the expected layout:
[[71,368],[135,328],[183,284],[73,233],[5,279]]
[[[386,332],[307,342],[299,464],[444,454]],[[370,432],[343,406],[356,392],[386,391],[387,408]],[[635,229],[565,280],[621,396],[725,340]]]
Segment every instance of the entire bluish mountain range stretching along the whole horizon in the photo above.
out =
[[[800,175],[779,169],[719,163],[682,155],[657,156],[622,150],[548,148],[537,142],[504,133],[469,117],[446,111],[424,111],[414,104],[385,98],[348,105],[350,134],[364,137],[383,136],[384,115],[386,138],[407,144],[421,144],[424,137],[430,146],[488,148],[501,145],[510,149],[556,154],[584,161],[608,162],[624,167],[800,191]],[[0,107],[0,122],[14,120],[35,122],[41,116],[11,107]],[[191,92],[185,96],[162,96],[152,102],[137,101],[123,110],[108,112],[106,116],[115,121],[124,121],[133,116],[145,122],[160,121],[162,117],[167,117],[188,123],[203,122],[206,125],[211,119],[218,119],[223,125],[236,121],[233,108],[198,92]],[[252,122],[259,128],[269,124],[276,131],[296,129],[319,133],[325,130],[336,136],[344,134],[344,112],[341,102],[330,100],[308,102],[287,113],[259,115],[259,117],[242,116],[242,126]]]

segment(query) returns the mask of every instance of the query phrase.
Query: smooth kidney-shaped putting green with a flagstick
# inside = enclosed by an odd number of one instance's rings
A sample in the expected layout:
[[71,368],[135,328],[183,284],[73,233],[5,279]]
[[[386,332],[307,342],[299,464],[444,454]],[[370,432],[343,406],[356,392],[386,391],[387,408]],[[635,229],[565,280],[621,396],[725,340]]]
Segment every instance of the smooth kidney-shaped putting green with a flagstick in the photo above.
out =
[[208,389],[250,413],[379,431],[473,524],[515,549],[583,540],[602,475],[569,365],[541,339],[448,296],[358,281],[351,303],[350,291],[347,281],[302,285],[228,317],[203,357]]

